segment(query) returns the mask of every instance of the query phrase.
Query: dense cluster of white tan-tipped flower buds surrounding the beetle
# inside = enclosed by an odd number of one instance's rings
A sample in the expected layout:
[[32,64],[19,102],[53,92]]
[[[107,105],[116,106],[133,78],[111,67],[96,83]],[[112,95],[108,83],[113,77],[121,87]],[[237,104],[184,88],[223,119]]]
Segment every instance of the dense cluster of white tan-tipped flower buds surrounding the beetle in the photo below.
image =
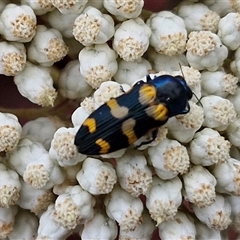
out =
[[[143,5],[0,2],[0,74],[56,115],[38,108],[41,117],[21,126],[0,109],[0,239],[240,234],[239,1],[188,0],[160,12]],[[182,75],[195,95],[190,112],[138,150],[79,153],[74,138],[89,114],[147,74]],[[66,101],[80,104],[72,115],[54,108]]]

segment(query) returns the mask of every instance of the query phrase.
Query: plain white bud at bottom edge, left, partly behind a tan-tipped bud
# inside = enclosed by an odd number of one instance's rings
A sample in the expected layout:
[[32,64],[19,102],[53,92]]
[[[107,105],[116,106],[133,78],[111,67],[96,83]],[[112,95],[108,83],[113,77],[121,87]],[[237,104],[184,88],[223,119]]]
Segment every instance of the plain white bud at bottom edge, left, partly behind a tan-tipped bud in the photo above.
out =
[[70,230],[60,226],[54,220],[54,205],[50,205],[48,209],[41,215],[39,219],[38,235],[36,240],[58,239],[65,240],[70,234]]

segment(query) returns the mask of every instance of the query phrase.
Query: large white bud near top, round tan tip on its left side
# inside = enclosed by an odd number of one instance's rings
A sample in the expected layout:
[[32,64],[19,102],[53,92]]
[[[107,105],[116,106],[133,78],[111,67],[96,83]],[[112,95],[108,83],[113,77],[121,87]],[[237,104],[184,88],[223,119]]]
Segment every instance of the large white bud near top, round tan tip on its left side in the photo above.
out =
[[106,43],[114,31],[112,17],[91,6],[84,9],[73,25],[73,36],[84,46]]

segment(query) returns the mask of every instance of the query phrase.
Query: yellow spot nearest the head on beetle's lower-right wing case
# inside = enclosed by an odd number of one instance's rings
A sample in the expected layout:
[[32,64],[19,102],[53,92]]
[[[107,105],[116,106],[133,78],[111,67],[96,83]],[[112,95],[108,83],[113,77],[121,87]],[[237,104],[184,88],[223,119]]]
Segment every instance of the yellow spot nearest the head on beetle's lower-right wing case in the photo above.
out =
[[165,121],[168,118],[168,110],[163,104],[148,107],[146,113],[156,121]]

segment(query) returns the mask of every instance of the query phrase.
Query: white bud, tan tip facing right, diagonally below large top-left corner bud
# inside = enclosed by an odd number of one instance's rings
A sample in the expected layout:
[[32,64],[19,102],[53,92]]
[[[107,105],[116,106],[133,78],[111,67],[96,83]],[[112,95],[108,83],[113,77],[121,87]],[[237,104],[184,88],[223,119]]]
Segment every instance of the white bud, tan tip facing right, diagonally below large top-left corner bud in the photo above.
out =
[[27,52],[30,61],[37,62],[44,67],[50,67],[67,55],[68,47],[58,30],[38,25],[36,35]]

